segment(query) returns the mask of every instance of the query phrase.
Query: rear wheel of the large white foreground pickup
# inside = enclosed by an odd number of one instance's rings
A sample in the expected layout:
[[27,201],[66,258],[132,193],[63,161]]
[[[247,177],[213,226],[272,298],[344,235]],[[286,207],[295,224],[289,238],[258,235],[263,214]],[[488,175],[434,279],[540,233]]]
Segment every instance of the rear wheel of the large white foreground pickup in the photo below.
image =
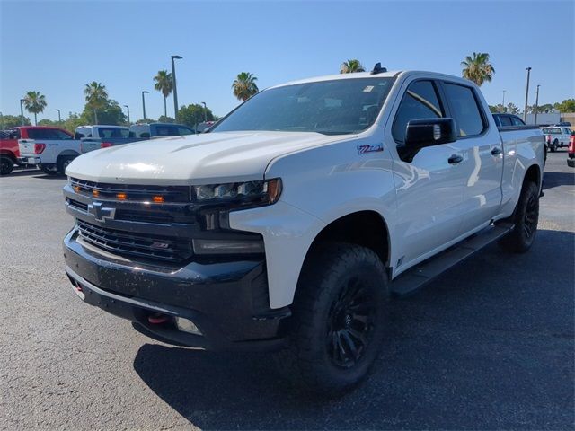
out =
[[500,241],[500,246],[507,251],[525,253],[535,240],[539,221],[539,188],[535,182],[523,184],[511,218],[515,227]]

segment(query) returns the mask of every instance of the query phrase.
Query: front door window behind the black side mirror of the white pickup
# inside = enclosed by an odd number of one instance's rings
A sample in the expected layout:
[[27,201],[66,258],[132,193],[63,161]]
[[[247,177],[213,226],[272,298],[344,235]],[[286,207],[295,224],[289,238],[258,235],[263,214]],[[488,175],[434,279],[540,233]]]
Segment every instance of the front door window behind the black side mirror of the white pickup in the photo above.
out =
[[392,135],[403,143],[405,128],[411,119],[443,118],[445,111],[439,103],[438,92],[431,81],[416,81],[407,87],[399,109],[395,114]]

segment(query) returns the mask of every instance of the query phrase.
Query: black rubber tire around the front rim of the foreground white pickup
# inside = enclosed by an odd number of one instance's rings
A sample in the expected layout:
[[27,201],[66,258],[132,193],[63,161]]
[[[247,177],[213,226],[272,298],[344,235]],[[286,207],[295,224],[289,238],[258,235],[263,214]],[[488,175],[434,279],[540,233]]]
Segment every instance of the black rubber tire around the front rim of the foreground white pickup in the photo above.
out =
[[[306,389],[337,396],[360,383],[376,360],[385,332],[388,289],[386,273],[376,253],[351,244],[323,249],[321,259],[304,269],[294,303],[297,330],[291,341],[299,352]],[[357,278],[373,298],[375,315],[367,347],[350,367],[335,364],[328,352],[331,308],[341,290]]]

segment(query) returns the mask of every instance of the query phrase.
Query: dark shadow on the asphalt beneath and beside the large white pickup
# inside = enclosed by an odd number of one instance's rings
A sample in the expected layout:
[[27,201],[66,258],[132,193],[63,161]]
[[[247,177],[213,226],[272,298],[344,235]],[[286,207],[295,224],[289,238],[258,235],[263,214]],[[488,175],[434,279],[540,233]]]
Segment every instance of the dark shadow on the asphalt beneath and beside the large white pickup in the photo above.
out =
[[568,428],[574,260],[574,233],[539,231],[526,254],[493,244],[394,300],[374,373],[338,400],[291,391],[265,354],[146,344],[134,369],[203,429]]

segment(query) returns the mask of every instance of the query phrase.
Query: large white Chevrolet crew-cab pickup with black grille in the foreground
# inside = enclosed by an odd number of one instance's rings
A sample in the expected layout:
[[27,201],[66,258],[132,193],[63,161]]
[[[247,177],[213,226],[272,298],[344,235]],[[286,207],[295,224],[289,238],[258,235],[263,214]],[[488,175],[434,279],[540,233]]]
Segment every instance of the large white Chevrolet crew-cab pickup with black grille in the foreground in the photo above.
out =
[[543,163],[541,132],[498,130],[461,78],[376,65],[283,84],[207,134],[75,159],[66,273],[154,339],[275,351],[333,395],[367,376],[390,296],[491,242],[530,248]]

